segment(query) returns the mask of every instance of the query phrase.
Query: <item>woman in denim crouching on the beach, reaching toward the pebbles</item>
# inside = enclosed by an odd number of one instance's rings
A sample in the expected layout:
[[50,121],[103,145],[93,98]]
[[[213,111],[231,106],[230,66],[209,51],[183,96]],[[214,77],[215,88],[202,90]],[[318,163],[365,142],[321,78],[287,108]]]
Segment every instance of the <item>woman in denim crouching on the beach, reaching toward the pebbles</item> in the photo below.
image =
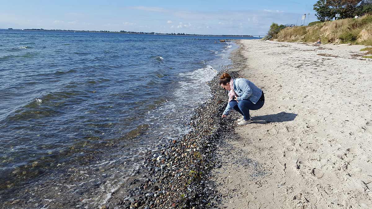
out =
[[249,110],[258,110],[265,103],[263,91],[250,80],[245,78],[232,79],[227,73],[219,77],[219,84],[229,91],[229,102],[222,118],[225,118],[230,110],[234,109],[242,115],[242,118],[238,119],[239,125],[250,123]]

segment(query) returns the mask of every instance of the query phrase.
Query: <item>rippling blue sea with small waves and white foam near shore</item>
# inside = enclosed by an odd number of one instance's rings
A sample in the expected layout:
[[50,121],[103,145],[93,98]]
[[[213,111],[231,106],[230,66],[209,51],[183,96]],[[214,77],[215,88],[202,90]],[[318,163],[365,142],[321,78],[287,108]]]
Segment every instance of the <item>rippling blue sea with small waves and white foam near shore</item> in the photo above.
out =
[[144,129],[187,132],[236,47],[216,39],[0,30],[0,185]]

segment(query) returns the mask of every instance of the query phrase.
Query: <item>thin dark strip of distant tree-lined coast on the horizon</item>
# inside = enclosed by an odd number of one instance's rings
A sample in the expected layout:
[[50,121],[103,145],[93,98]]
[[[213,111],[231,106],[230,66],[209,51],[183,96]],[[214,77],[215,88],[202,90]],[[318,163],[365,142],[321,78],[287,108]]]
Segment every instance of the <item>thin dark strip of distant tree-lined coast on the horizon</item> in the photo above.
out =
[[[13,29],[8,28],[10,30],[36,30],[36,31],[61,31],[61,32],[89,32],[89,33],[126,33],[126,34],[148,34],[148,35],[178,35],[178,36],[228,36],[228,37],[251,37],[254,38],[252,35],[202,35],[202,34],[189,34],[189,33],[155,33],[155,32],[135,32],[135,31],[109,31],[109,30],[61,30],[61,29]],[[262,36],[262,35],[261,35]]]

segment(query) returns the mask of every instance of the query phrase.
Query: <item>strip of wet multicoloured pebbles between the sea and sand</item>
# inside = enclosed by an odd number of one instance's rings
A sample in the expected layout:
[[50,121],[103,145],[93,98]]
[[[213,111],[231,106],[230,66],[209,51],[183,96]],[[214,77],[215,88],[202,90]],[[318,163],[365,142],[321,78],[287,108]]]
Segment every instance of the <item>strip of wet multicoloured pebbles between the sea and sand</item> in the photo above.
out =
[[[243,67],[240,49],[232,52],[232,65],[222,67],[232,77]],[[141,167],[134,169],[127,196],[114,198],[105,208],[217,208],[221,195],[211,181],[211,170],[221,167],[218,146],[234,132],[235,120],[221,119],[227,91],[219,84],[219,72],[208,84],[212,97],[200,105],[190,121],[191,131],[177,140],[148,151]],[[203,99],[203,98],[201,98]],[[229,118],[238,118],[233,113]],[[155,151],[154,151],[155,150]]]

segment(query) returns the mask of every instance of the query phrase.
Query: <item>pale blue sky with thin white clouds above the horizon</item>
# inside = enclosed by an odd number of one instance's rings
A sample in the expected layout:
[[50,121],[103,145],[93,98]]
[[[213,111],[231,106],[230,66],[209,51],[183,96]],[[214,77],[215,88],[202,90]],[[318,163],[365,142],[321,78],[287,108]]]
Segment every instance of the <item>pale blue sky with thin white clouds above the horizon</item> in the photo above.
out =
[[304,13],[315,21],[315,2],[0,0],[0,28],[264,35],[272,22],[299,24]]

